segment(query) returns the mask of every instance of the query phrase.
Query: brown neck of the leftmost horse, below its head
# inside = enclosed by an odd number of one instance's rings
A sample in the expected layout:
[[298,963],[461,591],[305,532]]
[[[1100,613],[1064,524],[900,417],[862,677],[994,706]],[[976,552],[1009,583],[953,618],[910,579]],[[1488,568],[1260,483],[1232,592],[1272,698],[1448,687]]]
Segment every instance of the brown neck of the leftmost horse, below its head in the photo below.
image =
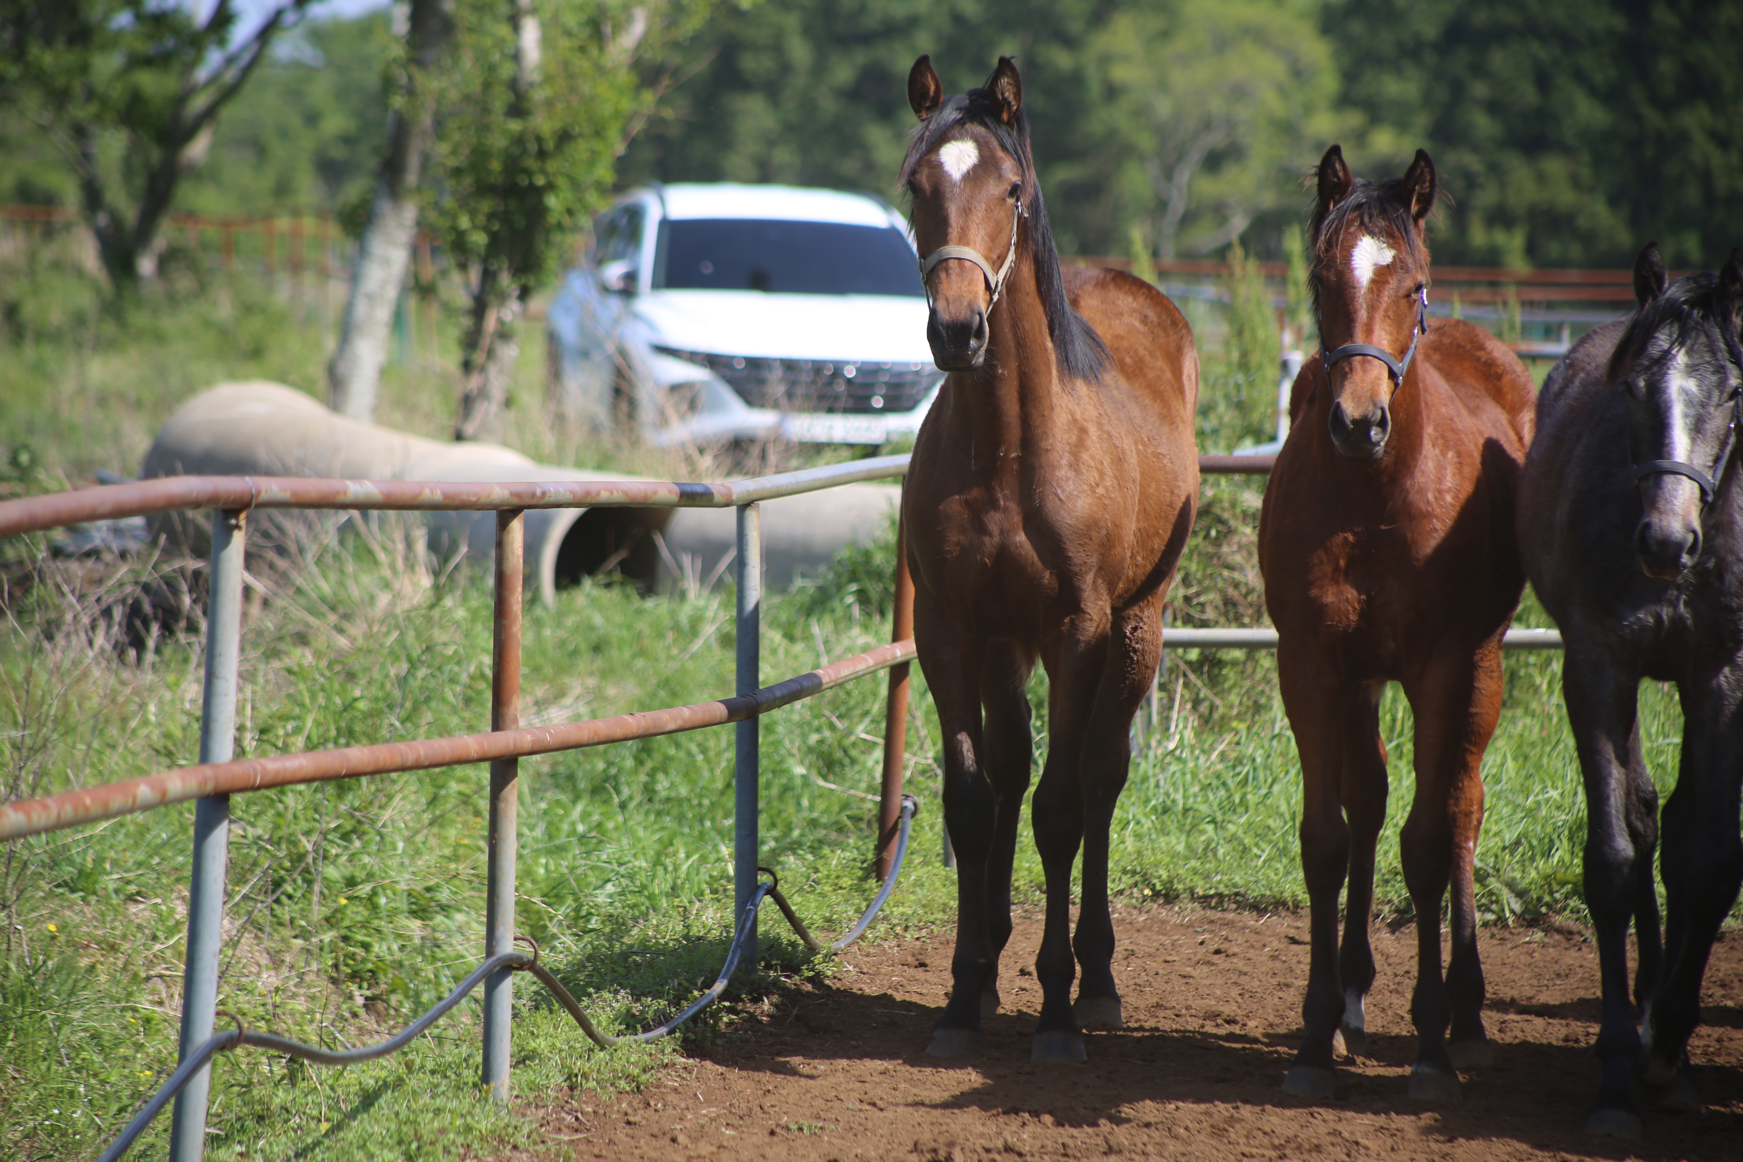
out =
[[1060,390],[1048,312],[1028,254],[1020,254],[988,317],[987,361],[964,376],[974,467],[1014,470],[1049,444]]

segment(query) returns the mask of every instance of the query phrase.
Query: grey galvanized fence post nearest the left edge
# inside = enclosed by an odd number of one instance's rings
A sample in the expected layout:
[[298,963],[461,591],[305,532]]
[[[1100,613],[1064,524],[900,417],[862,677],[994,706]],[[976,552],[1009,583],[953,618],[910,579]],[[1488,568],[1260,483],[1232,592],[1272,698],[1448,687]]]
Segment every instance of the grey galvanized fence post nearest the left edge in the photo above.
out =
[[[242,653],[242,551],[248,512],[213,512],[213,559],[206,601],[206,686],[200,699],[200,761],[227,763],[235,753],[235,679]],[[181,977],[181,1049],[187,1057],[213,1035],[218,1009],[218,953],[223,949],[225,866],[230,859],[230,796],[213,794],[193,808],[193,873],[188,885],[188,960]],[[211,1066],[176,1094],[169,1131],[171,1162],[199,1162],[206,1152],[206,1099]]]

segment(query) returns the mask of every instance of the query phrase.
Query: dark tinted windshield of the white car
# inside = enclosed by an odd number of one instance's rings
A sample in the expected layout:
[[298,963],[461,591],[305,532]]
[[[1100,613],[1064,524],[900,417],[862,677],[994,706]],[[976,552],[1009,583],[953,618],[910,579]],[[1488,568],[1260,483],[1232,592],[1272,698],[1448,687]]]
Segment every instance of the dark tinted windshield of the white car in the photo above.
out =
[[654,289],[926,294],[913,247],[894,226],[758,218],[662,221]]

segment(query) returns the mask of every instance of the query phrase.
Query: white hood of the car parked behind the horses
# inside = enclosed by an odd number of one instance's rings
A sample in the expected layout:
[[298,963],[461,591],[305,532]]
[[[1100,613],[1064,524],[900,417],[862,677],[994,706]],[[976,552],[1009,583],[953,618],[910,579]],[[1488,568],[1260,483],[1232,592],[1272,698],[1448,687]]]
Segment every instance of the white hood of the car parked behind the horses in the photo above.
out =
[[926,300],[894,294],[652,291],[634,314],[657,347],[838,362],[933,362]]

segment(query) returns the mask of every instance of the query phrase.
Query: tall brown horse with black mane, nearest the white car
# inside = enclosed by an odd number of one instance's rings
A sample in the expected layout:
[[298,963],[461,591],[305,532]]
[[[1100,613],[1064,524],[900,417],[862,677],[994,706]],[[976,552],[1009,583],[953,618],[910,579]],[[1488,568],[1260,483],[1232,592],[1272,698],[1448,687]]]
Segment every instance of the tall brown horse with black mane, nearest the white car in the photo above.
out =
[[1034,801],[1048,878],[1034,1057],[1082,1061],[1081,1026],[1121,1023],[1107,836],[1131,716],[1156,681],[1163,596],[1197,507],[1197,354],[1150,284],[1060,270],[1009,59],[946,101],[922,56],[908,103],[920,125],[901,185],[933,305],[926,334],[950,373],[901,507],[959,861],[953,988],[929,1052],[980,1054],[981,1014],[999,1005],[1032,747],[1025,681],[1039,655],[1051,744]]

